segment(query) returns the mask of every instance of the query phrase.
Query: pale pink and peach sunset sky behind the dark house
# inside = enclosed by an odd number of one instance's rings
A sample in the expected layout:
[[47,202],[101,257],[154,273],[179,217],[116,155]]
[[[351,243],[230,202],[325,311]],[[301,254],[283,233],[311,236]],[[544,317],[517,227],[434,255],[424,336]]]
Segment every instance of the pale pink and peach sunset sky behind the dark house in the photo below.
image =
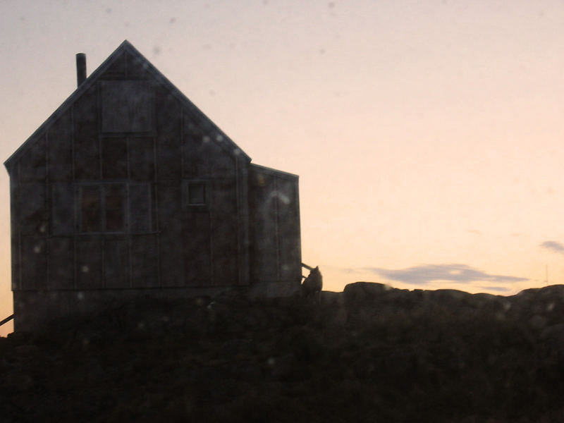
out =
[[[562,1],[4,0],[2,160],[75,90],[76,53],[90,75],[124,39],[254,163],[300,176],[325,289],[563,283]],[[0,204],[3,319],[6,171]]]

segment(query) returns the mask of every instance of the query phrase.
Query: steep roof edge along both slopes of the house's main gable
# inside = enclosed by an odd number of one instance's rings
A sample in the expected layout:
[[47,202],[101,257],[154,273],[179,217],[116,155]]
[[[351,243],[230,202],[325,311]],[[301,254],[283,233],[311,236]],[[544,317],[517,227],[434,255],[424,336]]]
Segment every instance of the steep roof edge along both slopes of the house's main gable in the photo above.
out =
[[[104,72],[121,56],[121,54],[123,54],[124,52],[127,52],[128,54],[132,55],[132,56],[136,56],[138,60],[140,60],[140,62],[143,64],[143,67],[146,69],[147,73],[151,74],[153,76],[153,78],[155,80],[157,80],[161,85],[164,85],[165,87],[168,88],[168,90],[171,91],[171,93],[180,101],[180,104],[185,107],[186,109],[188,109],[190,111],[190,113],[192,113],[196,118],[200,118],[202,119],[202,121],[204,121],[206,123],[206,125],[208,126],[208,129],[214,130],[216,131],[219,135],[221,135],[221,140],[222,142],[220,143],[220,145],[223,148],[226,148],[226,144],[229,145],[229,149],[231,149],[231,152],[233,151],[237,151],[239,152],[239,155],[243,156],[245,159],[247,159],[247,161],[250,161],[251,158],[249,156],[247,156],[247,154],[245,154],[245,152],[243,152],[242,149],[240,149],[238,147],[238,145],[235,144],[235,142],[233,142],[233,140],[231,140],[230,137],[228,137],[225,133],[223,133],[223,131],[221,129],[219,129],[217,127],[217,125],[210,119],[208,118],[200,109],[197,108],[197,106],[195,106],[195,104],[193,104],[192,102],[190,102],[190,99],[188,99],[188,97],[186,97],[182,92],[180,92],[180,90],[178,90],[178,88],[176,88],[172,82],[170,82],[157,68],[155,68],[153,66],[153,64],[151,62],[149,62],[147,60],[147,58],[145,58],[145,56],[143,56],[137,49],[135,49],[135,47],[133,47],[133,45],[128,42],[127,39],[125,39],[117,49],[114,50],[114,52],[112,54],[110,54],[108,56],[108,58],[100,65],[98,66],[98,68],[92,72],[90,74],[90,76],[88,78],[86,78],[86,80],[84,82],[82,82],[82,84],[80,84],[80,87],[78,87],[75,92],[73,92],[73,94],[71,94],[64,102],[63,104],[61,104],[61,106],[59,106],[54,112],[53,114],[51,114],[51,116],[49,116],[49,118],[47,118],[46,121],[44,121],[44,123],[42,123],[42,125],[39,126],[39,128],[37,128],[37,130],[35,130],[34,133],[32,133],[32,135],[30,135],[30,137],[27,138],[27,140],[25,140],[25,142],[23,143],[23,145],[20,145],[20,147],[16,150],[16,152],[14,152],[10,157],[8,157],[8,159],[6,161],[4,161],[4,166],[6,166],[6,168],[8,169],[8,171],[10,171],[11,166],[13,166],[13,164],[16,163],[17,159],[27,150],[30,148],[30,146],[32,145],[33,142],[35,142],[36,140],[39,139],[39,135],[42,135],[42,133],[44,133],[44,131],[47,130],[47,128],[49,128],[49,126],[54,123],[54,121],[56,121],[57,118],[61,117],[61,115],[85,92],[87,91],[90,87],[92,87],[92,85],[94,85],[95,82],[97,82],[97,80],[99,79],[99,77],[101,75],[104,74]],[[223,142],[225,141],[225,142]]]

